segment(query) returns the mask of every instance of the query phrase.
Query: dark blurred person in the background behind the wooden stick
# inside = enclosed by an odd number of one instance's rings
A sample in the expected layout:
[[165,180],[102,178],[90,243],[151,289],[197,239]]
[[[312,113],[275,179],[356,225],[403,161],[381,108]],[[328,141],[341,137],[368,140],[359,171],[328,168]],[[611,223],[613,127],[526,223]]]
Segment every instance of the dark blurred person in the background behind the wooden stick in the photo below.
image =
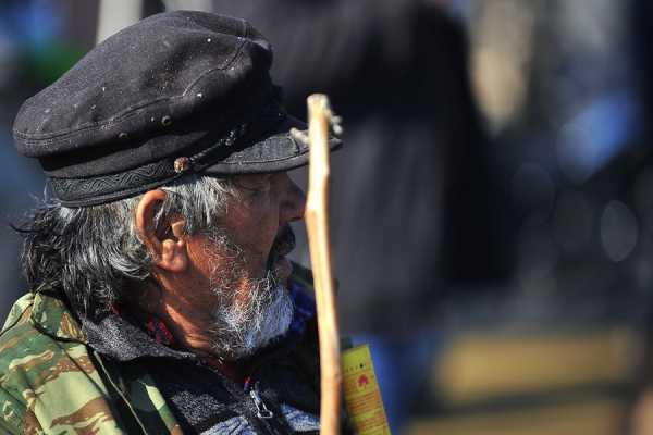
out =
[[396,431],[438,347],[440,302],[503,272],[464,30],[436,1],[210,3],[278,48],[292,113],[323,91],[345,120],[332,194],[341,316],[371,343]]

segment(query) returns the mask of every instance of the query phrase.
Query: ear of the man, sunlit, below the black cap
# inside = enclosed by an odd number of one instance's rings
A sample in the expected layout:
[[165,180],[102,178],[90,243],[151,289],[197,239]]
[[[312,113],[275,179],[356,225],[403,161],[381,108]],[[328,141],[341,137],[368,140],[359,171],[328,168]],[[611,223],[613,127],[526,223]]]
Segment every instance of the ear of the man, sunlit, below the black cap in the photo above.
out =
[[188,266],[188,252],[184,241],[183,219],[173,219],[167,222],[165,232],[157,234],[155,215],[165,200],[168,194],[161,189],[146,192],[136,208],[136,228],[138,235],[149,251],[152,263],[170,272],[184,272]]

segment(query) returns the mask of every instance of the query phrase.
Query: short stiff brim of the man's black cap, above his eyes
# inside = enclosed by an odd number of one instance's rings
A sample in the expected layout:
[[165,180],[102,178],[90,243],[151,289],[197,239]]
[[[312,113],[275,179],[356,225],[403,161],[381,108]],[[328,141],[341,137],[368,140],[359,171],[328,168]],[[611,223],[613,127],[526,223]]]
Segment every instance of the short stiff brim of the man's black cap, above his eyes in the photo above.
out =
[[[308,137],[308,125],[294,116],[286,117],[264,138],[246,148],[235,150],[220,162],[206,167],[204,173],[212,175],[261,174],[284,172],[308,164],[308,144],[294,137],[296,128]],[[342,146],[342,140],[330,138],[331,151]]]

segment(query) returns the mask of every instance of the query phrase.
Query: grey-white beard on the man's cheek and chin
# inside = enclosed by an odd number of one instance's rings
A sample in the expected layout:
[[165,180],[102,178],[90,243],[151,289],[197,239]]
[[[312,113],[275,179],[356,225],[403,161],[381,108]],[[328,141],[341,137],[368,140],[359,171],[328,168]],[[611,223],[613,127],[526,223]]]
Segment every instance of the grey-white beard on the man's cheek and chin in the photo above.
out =
[[[213,273],[213,294],[219,306],[209,331],[215,353],[236,360],[252,356],[288,331],[293,299],[286,287],[279,284],[274,271],[268,271],[264,278],[246,281],[245,288],[237,289],[236,283],[243,283],[238,266],[244,259],[233,246],[230,250],[234,253],[234,268]],[[241,297],[241,293],[245,295]]]

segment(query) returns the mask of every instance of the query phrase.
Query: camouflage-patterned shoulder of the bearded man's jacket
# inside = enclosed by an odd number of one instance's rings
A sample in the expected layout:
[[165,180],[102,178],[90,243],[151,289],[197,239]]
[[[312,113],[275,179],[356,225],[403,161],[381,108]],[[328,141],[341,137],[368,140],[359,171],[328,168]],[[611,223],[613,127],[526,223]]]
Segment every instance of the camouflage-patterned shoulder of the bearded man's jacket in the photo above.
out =
[[62,338],[61,327],[51,333],[64,313],[39,303],[38,295],[19,299],[0,333],[0,433],[41,433],[41,423],[65,433],[100,417],[102,427],[114,427],[86,345]]

